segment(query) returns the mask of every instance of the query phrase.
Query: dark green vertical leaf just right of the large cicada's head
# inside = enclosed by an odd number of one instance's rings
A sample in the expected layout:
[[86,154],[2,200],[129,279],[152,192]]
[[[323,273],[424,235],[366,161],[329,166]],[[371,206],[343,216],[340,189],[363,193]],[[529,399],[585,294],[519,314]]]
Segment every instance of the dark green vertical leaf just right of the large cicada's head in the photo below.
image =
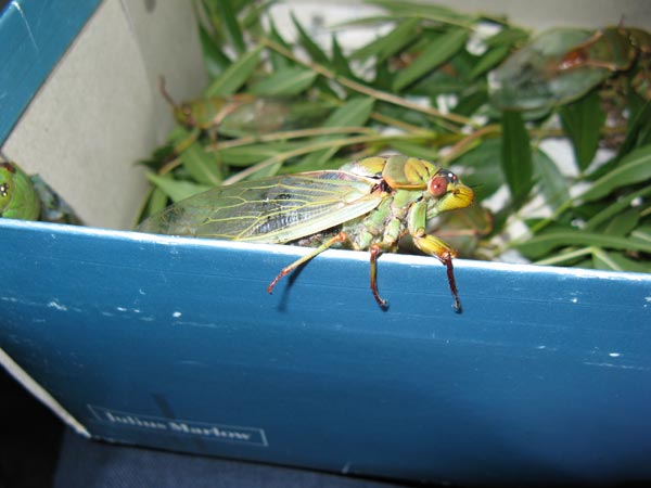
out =
[[502,113],[502,171],[514,202],[521,203],[533,187],[533,157],[528,131],[519,112]]

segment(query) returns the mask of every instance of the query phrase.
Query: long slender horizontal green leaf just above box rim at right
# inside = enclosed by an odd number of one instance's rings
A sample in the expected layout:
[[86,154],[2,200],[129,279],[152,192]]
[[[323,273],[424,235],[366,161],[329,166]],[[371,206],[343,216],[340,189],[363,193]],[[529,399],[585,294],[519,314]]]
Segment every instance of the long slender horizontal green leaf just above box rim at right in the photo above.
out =
[[578,230],[552,230],[536,235],[516,247],[531,258],[539,258],[549,254],[556,247],[565,246],[595,246],[651,253],[651,242],[644,242],[641,239],[604,235]]

